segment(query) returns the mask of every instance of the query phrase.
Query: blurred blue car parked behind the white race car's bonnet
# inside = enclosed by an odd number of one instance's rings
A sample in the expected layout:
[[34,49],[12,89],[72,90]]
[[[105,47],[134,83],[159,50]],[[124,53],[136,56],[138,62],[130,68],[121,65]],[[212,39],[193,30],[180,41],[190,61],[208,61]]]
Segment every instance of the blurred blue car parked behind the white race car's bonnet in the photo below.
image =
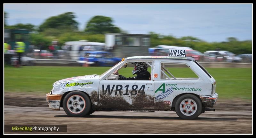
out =
[[79,63],[89,66],[114,66],[121,58],[113,58],[112,53],[105,51],[84,52],[84,56],[79,58]]

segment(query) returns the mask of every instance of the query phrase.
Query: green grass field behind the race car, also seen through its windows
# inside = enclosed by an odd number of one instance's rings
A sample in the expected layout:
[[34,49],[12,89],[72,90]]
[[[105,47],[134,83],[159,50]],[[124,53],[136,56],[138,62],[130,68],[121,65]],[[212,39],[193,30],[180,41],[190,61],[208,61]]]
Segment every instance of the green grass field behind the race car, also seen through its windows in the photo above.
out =
[[[102,74],[110,67],[56,67],[32,66],[4,67],[5,92],[49,93],[52,84],[60,79],[88,74]],[[131,77],[132,67],[119,71]],[[175,68],[173,74],[183,77],[186,68]],[[252,99],[252,68],[206,68],[216,80],[219,98]],[[184,76],[186,77],[186,76]]]

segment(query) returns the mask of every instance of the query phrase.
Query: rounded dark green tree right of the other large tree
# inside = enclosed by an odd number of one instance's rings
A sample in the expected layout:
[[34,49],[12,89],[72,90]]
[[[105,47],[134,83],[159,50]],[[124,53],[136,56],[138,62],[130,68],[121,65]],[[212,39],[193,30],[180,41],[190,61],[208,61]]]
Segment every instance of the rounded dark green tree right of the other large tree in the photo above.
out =
[[120,33],[120,28],[114,26],[112,22],[110,17],[94,16],[86,24],[84,31],[89,34]]

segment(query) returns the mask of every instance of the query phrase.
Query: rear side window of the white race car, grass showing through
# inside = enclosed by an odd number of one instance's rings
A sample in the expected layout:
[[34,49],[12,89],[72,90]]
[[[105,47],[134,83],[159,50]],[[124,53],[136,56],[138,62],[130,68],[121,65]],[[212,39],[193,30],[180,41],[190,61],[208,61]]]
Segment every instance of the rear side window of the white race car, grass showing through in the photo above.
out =
[[184,80],[199,79],[187,64],[161,63],[161,79]]

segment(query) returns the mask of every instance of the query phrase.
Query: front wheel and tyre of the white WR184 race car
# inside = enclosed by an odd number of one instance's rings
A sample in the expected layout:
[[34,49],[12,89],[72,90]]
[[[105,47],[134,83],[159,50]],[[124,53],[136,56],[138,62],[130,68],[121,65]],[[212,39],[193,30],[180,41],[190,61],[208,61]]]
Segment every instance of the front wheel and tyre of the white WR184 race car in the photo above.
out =
[[91,107],[91,100],[84,92],[70,92],[63,99],[63,109],[71,117],[83,117]]

